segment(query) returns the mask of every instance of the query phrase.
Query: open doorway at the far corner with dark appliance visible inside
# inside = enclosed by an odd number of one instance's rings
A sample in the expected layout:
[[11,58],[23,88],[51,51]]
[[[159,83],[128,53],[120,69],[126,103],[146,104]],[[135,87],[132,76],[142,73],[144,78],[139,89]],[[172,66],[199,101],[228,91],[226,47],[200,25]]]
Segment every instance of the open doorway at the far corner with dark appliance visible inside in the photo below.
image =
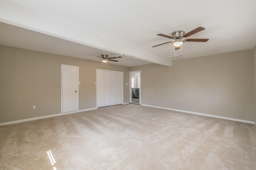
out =
[[140,70],[130,71],[130,103],[141,104],[141,76]]

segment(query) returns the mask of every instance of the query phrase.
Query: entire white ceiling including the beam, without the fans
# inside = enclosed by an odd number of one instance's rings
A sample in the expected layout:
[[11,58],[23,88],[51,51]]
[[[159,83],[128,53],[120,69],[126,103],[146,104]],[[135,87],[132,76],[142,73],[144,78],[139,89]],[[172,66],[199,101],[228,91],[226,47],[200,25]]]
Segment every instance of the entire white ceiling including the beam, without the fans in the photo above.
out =
[[1,0],[0,44],[83,59],[124,53],[111,64],[171,66],[172,44],[152,46],[172,40],[156,34],[206,28],[189,38],[209,41],[184,43],[176,51],[183,58],[254,49],[255,9],[256,0]]

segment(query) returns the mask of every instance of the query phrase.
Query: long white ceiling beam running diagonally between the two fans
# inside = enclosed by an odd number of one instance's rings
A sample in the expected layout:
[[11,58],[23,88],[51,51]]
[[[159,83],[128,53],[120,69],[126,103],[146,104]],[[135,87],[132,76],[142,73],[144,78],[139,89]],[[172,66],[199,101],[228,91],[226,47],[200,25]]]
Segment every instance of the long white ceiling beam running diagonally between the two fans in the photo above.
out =
[[123,53],[136,59],[172,66],[171,60],[141,51],[138,47],[113,41],[108,37],[89,32],[86,28],[56,20],[7,0],[0,2],[0,21],[105,51]]

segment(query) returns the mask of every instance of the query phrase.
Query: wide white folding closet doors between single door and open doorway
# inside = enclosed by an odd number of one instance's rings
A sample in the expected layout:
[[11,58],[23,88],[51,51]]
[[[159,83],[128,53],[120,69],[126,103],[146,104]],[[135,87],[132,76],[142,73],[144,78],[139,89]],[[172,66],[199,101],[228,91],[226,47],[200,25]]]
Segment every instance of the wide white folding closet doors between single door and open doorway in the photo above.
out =
[[97,107],[123,103],[123,72],[97,70]]

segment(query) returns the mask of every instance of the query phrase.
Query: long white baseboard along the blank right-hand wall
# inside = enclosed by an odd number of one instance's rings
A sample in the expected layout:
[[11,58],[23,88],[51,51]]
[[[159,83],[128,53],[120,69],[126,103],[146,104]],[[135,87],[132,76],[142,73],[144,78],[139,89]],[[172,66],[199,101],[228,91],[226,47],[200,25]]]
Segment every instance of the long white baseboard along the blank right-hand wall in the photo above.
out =
[[155,108],[159,108],[159,109],[166,109],[166,110],[172,110],[172,111],[180,111],[180,112],[190,113],[190,114],[194,114],[194,115],[202,115],[202,116],[208,116],[208,117],[216,117],[216,118],[220,118],[220,119],[227,119],[227,120],[232,120],[232,121],[240,121],[240,122],[250,123],[250,124],[255,124],[255,125],[256,125],[256,122],[254,122],[254,121],[248,121],[248,120],[242,120],[242,119],[234,119],[234,118],[231,118],[231,117],[210,115],[210,114],[198,113],[198,112],[194,112],[194,111],[186,111],[186,110],[179,110],[179,109],[171,109],[171,108],[167,108],[167,107],[151,106],[151,105],[146,105],[146,104],[141,104],[141,106],[155,107]]

